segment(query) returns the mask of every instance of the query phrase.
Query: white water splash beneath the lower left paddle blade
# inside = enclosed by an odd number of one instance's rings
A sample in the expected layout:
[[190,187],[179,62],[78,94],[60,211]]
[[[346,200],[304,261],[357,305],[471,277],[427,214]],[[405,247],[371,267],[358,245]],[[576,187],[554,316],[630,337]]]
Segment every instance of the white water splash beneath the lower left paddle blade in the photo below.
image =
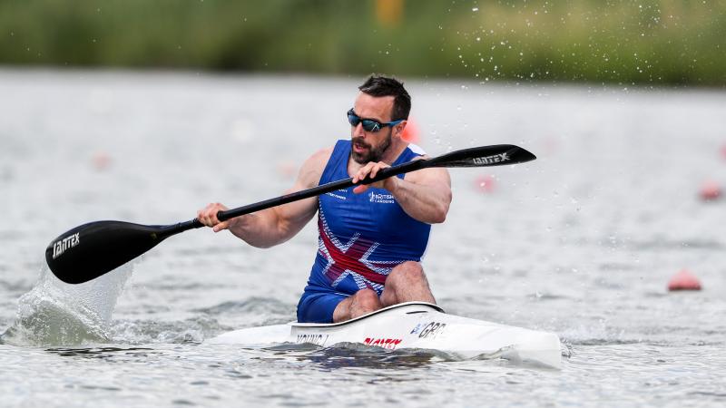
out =
[[132,265],[81,285],[68,285],[43,267],[18,300],[15,322],[0,336],[9,345],[86,345],[111,340],[113,307]]

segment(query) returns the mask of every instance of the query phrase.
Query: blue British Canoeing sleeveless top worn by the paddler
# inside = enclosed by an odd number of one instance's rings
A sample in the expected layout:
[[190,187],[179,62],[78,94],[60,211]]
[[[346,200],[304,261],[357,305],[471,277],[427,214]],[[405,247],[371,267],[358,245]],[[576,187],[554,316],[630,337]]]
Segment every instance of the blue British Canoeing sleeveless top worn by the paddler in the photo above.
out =
[[[319,184],[348,179],[351,141],[338,141]],[[413,160],[424,152],[409,144],[392,165]],[[404,175],[397,177],[403,179]],[[413,219],[386,189],[353,187],[319,196],[319,245],[306,292],[333,291],[352,295],[370,288],[378,295],[393,267],[420,261],[431,225]]]

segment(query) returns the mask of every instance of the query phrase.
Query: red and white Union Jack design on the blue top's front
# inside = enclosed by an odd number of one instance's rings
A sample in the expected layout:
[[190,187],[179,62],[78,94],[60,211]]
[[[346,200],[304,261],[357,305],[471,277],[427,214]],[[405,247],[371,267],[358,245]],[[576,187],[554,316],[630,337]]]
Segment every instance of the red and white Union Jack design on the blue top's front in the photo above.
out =
[[323,274],[329,278],[331,287],[338,287],[343,279],[352,277],[358,289],[373,289],[380,295],[383,292],[386,277],[391,273],[391,270],[405,262],[405,260],[381,261],[371,259],[370,257],[380,244],[361,238],[359,233],[356,233],[347,243],[343,244],[330,231],[322,211],[319,212],[318,228],[320,231],[319,253],[328,261],[323,269]]

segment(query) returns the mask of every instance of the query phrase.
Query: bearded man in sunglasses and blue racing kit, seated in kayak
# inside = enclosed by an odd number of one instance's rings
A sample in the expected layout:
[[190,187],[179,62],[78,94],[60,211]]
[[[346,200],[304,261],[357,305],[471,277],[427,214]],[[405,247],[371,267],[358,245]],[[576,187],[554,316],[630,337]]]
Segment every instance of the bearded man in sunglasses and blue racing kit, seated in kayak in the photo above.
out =
[[[373,75],[348,111],[350,140],[318,151],[288,192],[352,177],[375,177],[423,151],[401,139],[411,109],[403,83]],[[298,305],[299,322],[341,322],[408,301],[435,303],[420,265],[431,224],[446,219],[451,181],[446,169],[425,169],[220,222],[220,203],[197,218],[214,232],[258,248],[292,238],[319,212],[319,250]]]

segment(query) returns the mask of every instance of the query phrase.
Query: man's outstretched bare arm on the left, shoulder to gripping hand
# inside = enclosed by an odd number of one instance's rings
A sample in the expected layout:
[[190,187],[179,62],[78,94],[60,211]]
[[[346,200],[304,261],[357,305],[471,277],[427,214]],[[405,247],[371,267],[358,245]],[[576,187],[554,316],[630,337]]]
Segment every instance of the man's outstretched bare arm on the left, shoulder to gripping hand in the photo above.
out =
[[[303,163],[298,179],[285,193],[318,186],[320,176],[330,158],[332,148],[318,151]],[[211,203],[197,212],[202,224],[213,227],[214,232],[229,229],[232,234],[257,248],[270,248],[292,238],[313,218],[318,210],[318,198],[301,199],[271,209],[220,222],[217,211],[227,209],[220,203]]]

